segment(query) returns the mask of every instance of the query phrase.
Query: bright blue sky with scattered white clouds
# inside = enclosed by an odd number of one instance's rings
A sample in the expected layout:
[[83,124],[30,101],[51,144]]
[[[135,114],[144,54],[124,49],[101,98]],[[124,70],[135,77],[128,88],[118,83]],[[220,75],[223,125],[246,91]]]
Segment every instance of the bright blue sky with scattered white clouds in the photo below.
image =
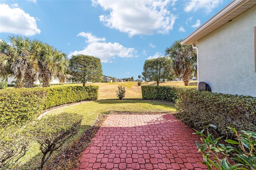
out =
[[0,38],[38,39],[98,57],[103,74],[142,75],[146,59],[186,38],[231,0],[0,0]]

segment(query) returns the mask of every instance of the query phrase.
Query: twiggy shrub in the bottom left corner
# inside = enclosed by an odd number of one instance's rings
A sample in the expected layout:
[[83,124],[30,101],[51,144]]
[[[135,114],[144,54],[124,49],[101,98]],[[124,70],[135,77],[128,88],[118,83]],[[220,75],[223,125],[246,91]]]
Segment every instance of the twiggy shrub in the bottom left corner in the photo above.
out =
[[25,155],[29,140],[21,128],[0,129],[0,169],[12,169],[14,164]]

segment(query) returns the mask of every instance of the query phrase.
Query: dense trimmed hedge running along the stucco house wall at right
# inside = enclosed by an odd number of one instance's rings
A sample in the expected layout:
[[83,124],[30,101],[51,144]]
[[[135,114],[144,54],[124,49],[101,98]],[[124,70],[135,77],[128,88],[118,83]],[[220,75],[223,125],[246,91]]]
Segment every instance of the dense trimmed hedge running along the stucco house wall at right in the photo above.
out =
[[177,92],[176,106],[180,113],[176,117],[196,130],[216,125],[217,136],[234,136],[226,127],[236,130],[256,131],[256,98],[242,95],[229,95],[192,89]]

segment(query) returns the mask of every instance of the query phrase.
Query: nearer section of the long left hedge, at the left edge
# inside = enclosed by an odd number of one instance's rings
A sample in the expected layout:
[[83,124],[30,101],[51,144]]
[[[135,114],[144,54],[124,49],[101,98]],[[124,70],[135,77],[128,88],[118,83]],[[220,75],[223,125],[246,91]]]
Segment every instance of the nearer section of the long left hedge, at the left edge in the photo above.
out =
[[46,94],[42,88],[0,90],[0,128],[34,120],[42,113]]

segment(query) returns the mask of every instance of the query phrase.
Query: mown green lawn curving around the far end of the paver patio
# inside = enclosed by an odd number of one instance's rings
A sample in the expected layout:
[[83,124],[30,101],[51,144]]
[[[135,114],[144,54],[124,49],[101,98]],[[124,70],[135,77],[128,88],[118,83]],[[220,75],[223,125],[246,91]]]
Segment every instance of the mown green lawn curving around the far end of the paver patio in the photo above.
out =
[[[133,82],[129,82],[131,87]],[[96,84],[96,83],[95,83]],[[107,83],[104,83],[107,84]],[[116,84],[118,86],[118,84]],[[127,86],[129,84],[126,84]],[[88,103],[81,103],[78,105],[70,105],[60,109],[51,111],[48,114],[58,114],[62,112],[67,113],[79,113],[82,117],[82,126],[76,136],[72,138],[64,147],[68,147],[70,143],[79,138],[82,133],[91,127],[94,122],[98,119],[98,115],[111,113],[112,111],[119,112],[169,112],[175,113],[176,109],[174,105],[170,103],[160,103],[160,102],[151,102],[151,101],[139,101],[139,100],[102,100],[102,101],[93,101]],[[27,154],[21,159],[22,165],[18,169],[35,169],[40,165],[40,159],[42,154],[39,150],[39,146],[36,144],[30,145],[30,150]]]

